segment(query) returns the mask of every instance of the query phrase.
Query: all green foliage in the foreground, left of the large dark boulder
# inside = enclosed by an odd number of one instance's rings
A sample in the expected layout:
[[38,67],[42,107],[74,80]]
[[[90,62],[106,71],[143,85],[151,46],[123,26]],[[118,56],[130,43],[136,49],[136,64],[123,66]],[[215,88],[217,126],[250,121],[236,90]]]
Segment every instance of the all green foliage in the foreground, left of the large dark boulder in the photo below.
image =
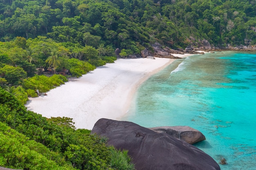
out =
[[46,119],[0,88],[0,166],[27,170],[134,170],[127,152],[70,118]]

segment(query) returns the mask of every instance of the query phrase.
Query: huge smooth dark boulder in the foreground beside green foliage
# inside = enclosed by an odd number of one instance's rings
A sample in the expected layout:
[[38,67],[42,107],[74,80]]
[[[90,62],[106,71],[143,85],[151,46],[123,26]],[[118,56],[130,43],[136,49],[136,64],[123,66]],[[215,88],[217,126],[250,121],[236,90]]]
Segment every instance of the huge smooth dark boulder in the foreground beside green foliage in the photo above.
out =
[[99,119],[92,128],[108,145],[128,150],[136,170],[220,170],[209,155],[166,133],[128,121]]

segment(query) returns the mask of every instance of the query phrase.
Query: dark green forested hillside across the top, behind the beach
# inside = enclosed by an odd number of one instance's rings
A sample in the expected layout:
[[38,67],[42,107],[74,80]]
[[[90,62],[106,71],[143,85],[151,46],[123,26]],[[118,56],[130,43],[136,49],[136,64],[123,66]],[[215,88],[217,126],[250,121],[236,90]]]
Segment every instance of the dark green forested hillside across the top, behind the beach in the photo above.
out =
[[0,40],[38,35],[139,53],[155,41],[184,47],[256,44],[255,0],[1,0]]

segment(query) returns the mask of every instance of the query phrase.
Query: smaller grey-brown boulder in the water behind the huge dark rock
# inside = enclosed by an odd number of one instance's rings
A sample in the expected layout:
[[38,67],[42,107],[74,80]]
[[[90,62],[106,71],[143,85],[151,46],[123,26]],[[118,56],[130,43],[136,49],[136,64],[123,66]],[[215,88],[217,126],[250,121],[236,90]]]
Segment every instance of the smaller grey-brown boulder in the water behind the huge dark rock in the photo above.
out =
[[189,126],[161,126],[149,128],[158,133],[167,133],[176,139],[180,139],[189,144],[195,144],[205,140],[205,136],[199,130]]

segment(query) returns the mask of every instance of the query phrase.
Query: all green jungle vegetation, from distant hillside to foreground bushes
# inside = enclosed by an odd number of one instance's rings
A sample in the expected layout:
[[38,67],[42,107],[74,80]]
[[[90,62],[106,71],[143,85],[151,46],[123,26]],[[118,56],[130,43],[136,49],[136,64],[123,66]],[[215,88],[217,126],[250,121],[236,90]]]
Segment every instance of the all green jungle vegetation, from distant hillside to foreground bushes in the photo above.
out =
[[155,42],[171,49],[256,45],[256,0],[0,0],[0,167],[134,170],[127,151],[47,119],[28,97]]

